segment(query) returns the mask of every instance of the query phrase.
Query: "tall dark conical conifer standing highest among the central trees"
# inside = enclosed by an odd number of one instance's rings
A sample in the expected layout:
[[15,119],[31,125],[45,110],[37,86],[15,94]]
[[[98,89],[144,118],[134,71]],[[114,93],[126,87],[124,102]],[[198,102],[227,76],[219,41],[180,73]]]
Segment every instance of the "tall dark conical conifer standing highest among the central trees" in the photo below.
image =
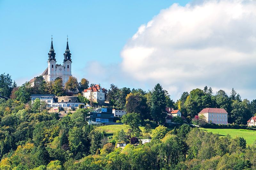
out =
[[152,105],[151,105],[151,116],[154,121],[159,123],[165,122],[166,112],[166,98],[162,86],[158,83],[152,91]]

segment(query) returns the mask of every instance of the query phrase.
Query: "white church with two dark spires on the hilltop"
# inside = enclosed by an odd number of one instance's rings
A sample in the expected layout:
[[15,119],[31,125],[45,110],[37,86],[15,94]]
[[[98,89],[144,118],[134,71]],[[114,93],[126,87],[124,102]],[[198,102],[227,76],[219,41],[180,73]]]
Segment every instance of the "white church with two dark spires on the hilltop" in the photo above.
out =
[[[67,38],[67,46],[64,55],[63,65],[56,64],[55,59],[56,53],[53,49],[53,43],[51,42],[51,48],[48,53],[48,67],[41,74],[46,82],[54,81],[56,78],[60,77],[63,82],[63,86],[65,86],[71,74],[71,53],[68,47],[68,38]],[[29,81],[31,86],[34,86],[35,78]]]

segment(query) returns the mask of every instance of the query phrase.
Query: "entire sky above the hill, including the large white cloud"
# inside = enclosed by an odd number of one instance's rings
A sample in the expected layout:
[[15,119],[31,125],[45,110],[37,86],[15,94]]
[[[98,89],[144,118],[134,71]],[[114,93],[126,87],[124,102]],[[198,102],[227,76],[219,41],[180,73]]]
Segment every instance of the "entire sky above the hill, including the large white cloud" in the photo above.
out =
[[252,100],[255,8],[251,0],[0,0],[0,73],[18,85],[40,75],[51,35],[62,63],[68,35],[78,80],[144,90],[159,82],[174,100],[205,85],[234,88]]

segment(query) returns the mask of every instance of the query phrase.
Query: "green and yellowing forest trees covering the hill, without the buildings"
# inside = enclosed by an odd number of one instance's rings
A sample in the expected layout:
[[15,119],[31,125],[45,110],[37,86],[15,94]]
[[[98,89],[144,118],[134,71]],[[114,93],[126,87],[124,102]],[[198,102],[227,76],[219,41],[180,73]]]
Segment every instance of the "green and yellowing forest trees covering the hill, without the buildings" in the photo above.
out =
[[[121,121],[129,129],[108,135],[85,121],[89,109],[60,118],[40,101],[31,104],[29,97],[36,90],[65,93],[61,80],[35,86],[26,82],[17,87],[10,75],[0,75],[2,95],[11,98],[0,100],[0,169],[256,169],[256,143],[247,145],[243,137],[212,134],[188,124],[164,124],[165,107],[180,109],[187,122],[202,108],[222,107],[229,113],[229,123],[245,124],[254,113],[255,100],[241,100],[234,89],[230,96],[223,90],[213,95],[211,88],[194,89],[173,102],[160,84],[148,92],[112,84],[108,100],[127,111]],[[149,143],[139,142],[148,138]],[[116,148],[120,142],[129,144]]]

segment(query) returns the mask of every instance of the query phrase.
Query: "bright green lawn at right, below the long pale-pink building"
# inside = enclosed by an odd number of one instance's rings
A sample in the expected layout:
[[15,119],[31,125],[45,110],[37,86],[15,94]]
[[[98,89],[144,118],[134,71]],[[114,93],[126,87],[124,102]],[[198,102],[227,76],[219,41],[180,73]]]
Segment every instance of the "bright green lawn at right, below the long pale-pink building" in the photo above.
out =
[[210,129],[210,128],[200,128],[201,130],[206,130],[219,135],[230,135],[233,137],[243,137],[246,140],[247,145],[254,143],[256,139],[256,131],[247,129]]

